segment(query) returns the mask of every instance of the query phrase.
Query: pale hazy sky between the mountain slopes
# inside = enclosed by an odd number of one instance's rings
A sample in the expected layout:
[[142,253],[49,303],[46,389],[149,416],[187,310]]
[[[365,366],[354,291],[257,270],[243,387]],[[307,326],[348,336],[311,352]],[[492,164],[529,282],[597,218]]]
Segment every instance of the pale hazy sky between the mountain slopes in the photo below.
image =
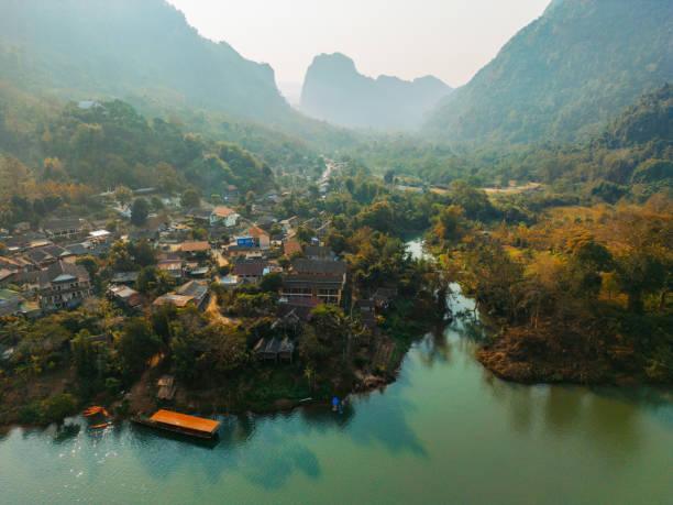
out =
[[341,52],[368,76],[432,74],[465,84],[550,0],[168,0],[189,24],[304,81],[320,53]]

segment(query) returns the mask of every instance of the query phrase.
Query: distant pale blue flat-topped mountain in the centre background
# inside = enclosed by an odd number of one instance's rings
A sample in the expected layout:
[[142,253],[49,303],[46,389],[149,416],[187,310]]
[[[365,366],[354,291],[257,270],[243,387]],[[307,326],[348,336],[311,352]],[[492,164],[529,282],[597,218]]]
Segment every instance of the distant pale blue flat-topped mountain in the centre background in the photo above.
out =
[[402,130],[419,127],[449,92],[449,86],[431,76],[372,79],[358,74],[347,56],[321,54],[307,70],[300,110],[342,127]]

